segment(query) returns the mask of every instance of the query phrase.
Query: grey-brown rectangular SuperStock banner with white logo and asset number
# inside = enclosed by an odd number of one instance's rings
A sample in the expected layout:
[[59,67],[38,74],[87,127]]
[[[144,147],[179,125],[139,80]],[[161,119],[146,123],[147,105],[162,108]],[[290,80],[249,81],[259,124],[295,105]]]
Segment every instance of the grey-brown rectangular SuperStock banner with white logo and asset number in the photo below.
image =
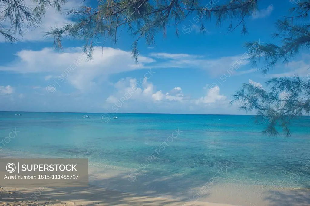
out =
[[1,158],[0,185],[5,187],[88,186],[88,159]]

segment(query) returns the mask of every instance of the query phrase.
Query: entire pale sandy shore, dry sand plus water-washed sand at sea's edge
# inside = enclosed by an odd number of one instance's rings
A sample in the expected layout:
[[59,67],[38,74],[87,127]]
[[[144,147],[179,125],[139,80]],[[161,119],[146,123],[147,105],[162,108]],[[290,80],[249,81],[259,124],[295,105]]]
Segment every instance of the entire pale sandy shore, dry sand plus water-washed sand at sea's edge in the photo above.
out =
[[[27,153],[2,154],[2,158],[32,157]],[[106,165],[105,165],[106,166]],[[112,167],[113,168],[113,167]],[[270,187],[262,185],[218,182],[197,198],[205,182],[192,179],[154,179],[147,174],[128,180],[128,171],[122,168],[89,166],[88,187],[36,187],[0,189],[0,206],[309,206],[310,189]],[[300,181],[303,181],[301,178]],[[306,186],[307,182],[304,182]],[[179,190],[175,190],[178,185]],[[184,188],[192,186],[190,191]],[[117,190],[115,190],[117,189]],[[140,192],[143,191],[143,194]],[[201,194],[201,192],[200,192]],[[193,201],[191,201],[193,200]]]

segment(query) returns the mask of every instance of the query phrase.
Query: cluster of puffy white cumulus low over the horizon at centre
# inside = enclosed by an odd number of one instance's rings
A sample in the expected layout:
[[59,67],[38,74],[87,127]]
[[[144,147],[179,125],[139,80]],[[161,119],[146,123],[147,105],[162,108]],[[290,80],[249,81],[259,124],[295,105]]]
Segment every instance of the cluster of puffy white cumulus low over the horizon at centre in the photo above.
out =
[[146,103],[148,105],[165,103],[163,105],[173,105],[171,107],[185,106],[189,108],[192,106],[192,109],[194,105],[221,107],[228,103],[227,97],[219,94],[218,86],[208,89],[206,96],[199,99],[191,99],[188,95],[184,95],[181,87],[175,87],[170,92],[157,91],[152,83],[145,81],[144,84],[139,84],[136,79],[129,77],[118,81],[114,87],[117,91],[106,99],[107,107],[112,109],[114,105],[117,107],[139,107],[140,105],[145,106]]

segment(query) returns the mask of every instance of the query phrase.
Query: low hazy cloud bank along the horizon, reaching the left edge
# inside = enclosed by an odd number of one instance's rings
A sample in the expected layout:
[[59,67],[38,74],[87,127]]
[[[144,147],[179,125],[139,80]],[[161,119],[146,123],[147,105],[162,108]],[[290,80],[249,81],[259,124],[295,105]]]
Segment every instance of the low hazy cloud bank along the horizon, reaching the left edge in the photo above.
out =
[[[44,87],[36,90],[32,89],[33,86],[14,87],[13,94],[0,95],[0,106],[4,110],[14,110],[11,103],[16,102],[18,107],[28,111],[76,112],[82,109],[84,112],[103,113],[236,113],[234,108],[229,107],[227,98],[216,88],[209,90],[207,86],[205,90],[201,89],[205,95],[192,98],[178,85],[165,90],[154,85],[151,80],[127,77],[113,83],[108,93],[85,93],[82,96],[81,93],[74,95],[61,90],[49,94]],[[10,88],[1,86],[1,94],[11,93]]]

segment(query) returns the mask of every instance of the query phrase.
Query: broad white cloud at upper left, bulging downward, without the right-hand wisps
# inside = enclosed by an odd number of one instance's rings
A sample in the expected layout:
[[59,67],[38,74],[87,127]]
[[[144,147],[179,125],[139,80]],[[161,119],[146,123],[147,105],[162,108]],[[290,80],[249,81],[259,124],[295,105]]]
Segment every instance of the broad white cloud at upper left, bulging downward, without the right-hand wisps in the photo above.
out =
[[[0,66],[0,71],[50,73],[56,77],[57,84],[69,81],[75,88],[89,91],[96,84],[95,78],[141,69],[144,64],[154,62],[153,59],[140,55],[137,65],[131,52],[107,47],[95,47],[93,61],[88,61],[81,51],[80,47],[68,48],[63,53],[50,48],[38,51],[21,50],[16,54],[18,59],[6,66]],[[45,76],[45,79],[51,80],[50,77],[51,75]],[[55,82],[53,84],[56,85]]]

